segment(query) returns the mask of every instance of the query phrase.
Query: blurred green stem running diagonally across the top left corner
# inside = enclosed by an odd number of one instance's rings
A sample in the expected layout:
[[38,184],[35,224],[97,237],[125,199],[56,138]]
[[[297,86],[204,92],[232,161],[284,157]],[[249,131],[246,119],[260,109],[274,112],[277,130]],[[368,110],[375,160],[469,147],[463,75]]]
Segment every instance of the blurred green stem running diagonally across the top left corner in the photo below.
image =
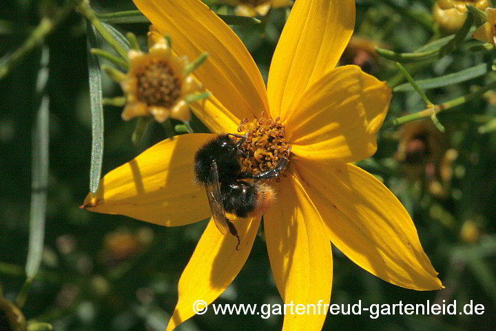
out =
[[23,45],[15,50],[6,61],[1,63],[0,66],[0,79],[6,76],[8,72],[21,61],[26,54],[31,52],[33,48],[43,43],[45,37],[50,34],[59,23],[68,17],[72,12],[78,1],[68,1],[67,4],[55,14],[53,18],[43,17],[37,28],[33,30],[30,37],[24,41]]

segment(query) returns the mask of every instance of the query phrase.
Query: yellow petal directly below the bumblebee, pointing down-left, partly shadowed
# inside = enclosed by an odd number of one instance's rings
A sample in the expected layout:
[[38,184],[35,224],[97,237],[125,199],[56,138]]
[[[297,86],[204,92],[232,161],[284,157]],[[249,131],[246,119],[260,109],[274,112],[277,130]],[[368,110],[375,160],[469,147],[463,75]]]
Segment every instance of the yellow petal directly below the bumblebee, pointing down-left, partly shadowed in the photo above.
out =
[[221,234],[214,220],[210,220],[179,279],[178,303],[167,331],[174,330],[177,325],[194,316],[193,305],[196,301],[203,300],[209,305],[224,292],[245,264],[259,224],[259,217],[234,221],[241,238],[239,250],[236,250],[236,237]]

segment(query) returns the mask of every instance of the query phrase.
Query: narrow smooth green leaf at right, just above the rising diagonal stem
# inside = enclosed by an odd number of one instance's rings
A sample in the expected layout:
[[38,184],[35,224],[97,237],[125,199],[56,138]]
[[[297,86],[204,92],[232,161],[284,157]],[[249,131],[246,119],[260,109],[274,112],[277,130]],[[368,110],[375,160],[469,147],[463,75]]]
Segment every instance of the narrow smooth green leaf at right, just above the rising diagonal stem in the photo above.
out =
[[[446,74],[441,77],[422,79],[416,81],[417,86],[423,89],[429,88],[442,88],[443,86],[449,86],[457,83],[462,83],[463,81],[468,81],[476,77],[480,77],[483,74],[490,72],[490,68],[486,63],[479,64],[478,66],[461,70],[459,72],[453,72],[452,74]],[[411,83],[404,83],[400,86],[396,86],[394,92],[406,92],[414,90]]]

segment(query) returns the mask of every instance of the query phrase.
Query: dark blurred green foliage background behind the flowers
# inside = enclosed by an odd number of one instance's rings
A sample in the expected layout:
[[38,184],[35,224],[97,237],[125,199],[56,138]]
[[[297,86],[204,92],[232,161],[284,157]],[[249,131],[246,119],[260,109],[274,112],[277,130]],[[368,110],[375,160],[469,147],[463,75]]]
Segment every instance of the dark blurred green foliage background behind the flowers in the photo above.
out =
[[[50,14],[56,1],[10,0],[0,6],[0,59],[12,52]],[[134,9],[130,0],[92,1],[99,11]],[[423,26],[409,13],[429,18],[433,1],[357,1],[357,26],[342,63],[355,63],[382,80],[399,79],[394,63],[375,57],[374,45],[413,51],[443,32]],[[225,8],[221,8],[225,10]],[[236,27],[267,79],[273,50],[285,22],[284,8],[272,10],[258,26]],[[145,47],[145,23],[121,24]],[[206,221],[165,228],[127,217],[79,210],[89,190],[91,112],[85,23],[72,12],[44,43],[49,51],[50,175],[45,250],[23,314],[47,321],[55,330],[165,330],[177,300],[177,282]],[[468,42],[470,43],[470,41]],[[470,46],[470,44],[468,44]],[[438,77],[492,61],[495,52],[466,48],[413,68],[415,79]],[[32,131],[40,104],[35,83],[41,48],[34,48],[0,80],[0,287],[11,301],[25,281],[28,254]],[[411,68],[412,69],[412,68]],[[464,83],[427,90],[434,103],[454,99],[484,86],[488,75]],[[400,79],[401,80],[401,79]],[[395,84],[397,85],[397,81]],[[121,95],[103,75],[104,97]],[[334,255],[331,303],[451,303],[484,305],[482,315],[381,316],[330,315],[323,330],[496,330],[495,183],[496,134],[478,128],[493,119],[496,94],[441,113],[446,133],[429,119],[382,130],[378,152],[360,162],[376,174],[404,203],[413,217],[428,257],[446,289],[415,292],[386,283]],[[400,116],[424,108],[415,92],[396,92],[390,114]],[[167,137],[152,124],[138,146],[131,143],[135,121],[121,120],[121,109],[105,107],[103,173],[130,161]],[[174,123],[172,123],[174,125]],[[199,123],[194,128],[201,131]],[[198,275],[201,277],[201,275]],[[280,303],[267,248],[260,235],[244,268],[216,303]],[[459,309],[459,308],[458,308]],[[196,316],[178,330],[280,330],[282,316]]]

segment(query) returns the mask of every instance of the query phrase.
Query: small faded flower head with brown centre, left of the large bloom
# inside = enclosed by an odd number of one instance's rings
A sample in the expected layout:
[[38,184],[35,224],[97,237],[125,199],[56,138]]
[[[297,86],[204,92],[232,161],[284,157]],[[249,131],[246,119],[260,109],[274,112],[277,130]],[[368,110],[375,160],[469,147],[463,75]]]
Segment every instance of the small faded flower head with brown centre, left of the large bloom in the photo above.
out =
[[130,70],[120,81],[127,103],[122,112],[125,121],[138,116],[153,115],[163,122],[169,117],[189,121],[188,94],[202,86],[187,72],[187,59],[176,57],[168,41],[149,32],[149,52],[130,50]]

